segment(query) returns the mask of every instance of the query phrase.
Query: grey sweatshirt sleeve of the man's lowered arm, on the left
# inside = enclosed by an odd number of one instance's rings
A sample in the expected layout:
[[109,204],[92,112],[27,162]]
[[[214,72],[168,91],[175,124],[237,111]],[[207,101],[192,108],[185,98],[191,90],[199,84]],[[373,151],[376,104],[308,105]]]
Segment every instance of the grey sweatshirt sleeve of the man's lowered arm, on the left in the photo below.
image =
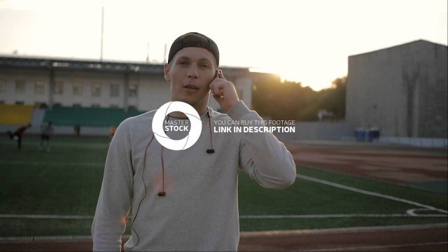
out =
[[132,202],[130,130],[126,121],[113,136],[92,223],[93,251],[120,251],[125,218]]

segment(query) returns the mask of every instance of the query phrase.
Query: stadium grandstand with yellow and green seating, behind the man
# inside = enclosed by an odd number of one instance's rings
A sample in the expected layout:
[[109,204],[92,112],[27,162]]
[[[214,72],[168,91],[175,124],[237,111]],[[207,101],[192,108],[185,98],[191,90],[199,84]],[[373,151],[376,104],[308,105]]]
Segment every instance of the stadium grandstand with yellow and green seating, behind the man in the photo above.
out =
[[[247,68],[222,67],[239,97],[251,107]],[[55,134],[106,135],[125,118],[168,102],[162,64],[0,56],[0,132],[31,123],[39,134],[52,122]],[[211,99],[210,106],[219,105]]]

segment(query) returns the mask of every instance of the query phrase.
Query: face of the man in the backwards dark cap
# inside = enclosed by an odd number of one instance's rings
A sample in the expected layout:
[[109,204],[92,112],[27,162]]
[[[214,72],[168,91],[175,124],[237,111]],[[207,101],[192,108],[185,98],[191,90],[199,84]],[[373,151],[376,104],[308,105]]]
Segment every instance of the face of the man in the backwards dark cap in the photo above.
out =
[[209,104],[209,85],[215,77],[215,57],[204,48],[183,48],[165,64],[165,79],[171,83],[172,101],[186,102],[198,113]]

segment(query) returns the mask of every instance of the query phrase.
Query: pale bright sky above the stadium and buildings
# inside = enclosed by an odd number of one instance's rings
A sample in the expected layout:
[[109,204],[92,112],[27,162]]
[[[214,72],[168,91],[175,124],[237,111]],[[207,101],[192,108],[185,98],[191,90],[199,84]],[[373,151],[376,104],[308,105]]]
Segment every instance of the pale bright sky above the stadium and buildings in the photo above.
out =
[[[419,39],[447,45],[447,0],[0,0],[0,55],[164,63],[197,31],[221,66],[280,74],[321,90],[348,57]],[[102,6],[104,29],[102,43]]]

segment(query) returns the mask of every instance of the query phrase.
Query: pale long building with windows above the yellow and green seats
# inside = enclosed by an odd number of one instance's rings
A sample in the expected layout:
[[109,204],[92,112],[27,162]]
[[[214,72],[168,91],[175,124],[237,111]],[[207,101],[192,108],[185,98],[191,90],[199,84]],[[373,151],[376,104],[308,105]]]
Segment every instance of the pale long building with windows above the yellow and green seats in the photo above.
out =
[[[222,69],[251,108],[248,69]],[[151,111],[170,100],[169,89],[161,64],[0,57],[0,104]],[[210,106],[219,108],[212,97]]]

